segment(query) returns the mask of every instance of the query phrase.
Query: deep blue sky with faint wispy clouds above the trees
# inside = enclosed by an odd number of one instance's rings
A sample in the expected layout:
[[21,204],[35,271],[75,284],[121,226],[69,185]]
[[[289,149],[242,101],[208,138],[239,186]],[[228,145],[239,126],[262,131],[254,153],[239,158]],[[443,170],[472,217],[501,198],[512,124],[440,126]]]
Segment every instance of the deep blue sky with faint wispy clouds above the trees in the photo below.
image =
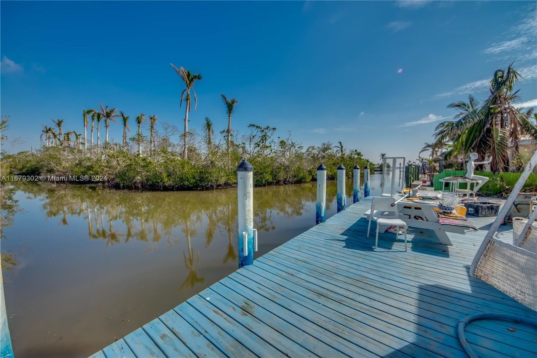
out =
[[[40,145],[41,125],[83,131],[99,103],[182,128],[184,86],[169,63],[203,76],[198,109],[227,126],[271,125],[304,146],[323,141],[415,159],[446,105],[515,61],[521,102],[537,105],[536,2],[6,2],[2,116],[9,152]],[[134,123],[131,128],[134,128]],[[113,125],[111,138],[121,140]]]

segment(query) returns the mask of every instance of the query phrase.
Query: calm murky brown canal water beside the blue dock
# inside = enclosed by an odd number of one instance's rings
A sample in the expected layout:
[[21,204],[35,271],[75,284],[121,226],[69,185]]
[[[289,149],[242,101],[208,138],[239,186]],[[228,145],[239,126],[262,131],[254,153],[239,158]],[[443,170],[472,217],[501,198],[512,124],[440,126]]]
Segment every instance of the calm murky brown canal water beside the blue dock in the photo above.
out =
[[[372,195],[380,177],[371,176]],[[2,268],[17,357],[88,356],[237,269],[235,188],[2,190]],[[350,205],[348,179],[347,194]],[[335,181],[326,196],[330,217]],[[253,198],[256,257],[315,225],[315,182],[255,188]]]

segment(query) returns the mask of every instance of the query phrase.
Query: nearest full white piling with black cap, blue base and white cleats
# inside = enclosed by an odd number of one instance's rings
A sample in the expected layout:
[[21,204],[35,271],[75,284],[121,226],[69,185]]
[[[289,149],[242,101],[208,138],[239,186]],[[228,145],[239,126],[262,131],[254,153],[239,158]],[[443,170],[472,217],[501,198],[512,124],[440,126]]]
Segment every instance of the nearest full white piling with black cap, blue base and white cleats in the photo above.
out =
[[253,263],[253,167],[243,160],[237,167],[238,267]]

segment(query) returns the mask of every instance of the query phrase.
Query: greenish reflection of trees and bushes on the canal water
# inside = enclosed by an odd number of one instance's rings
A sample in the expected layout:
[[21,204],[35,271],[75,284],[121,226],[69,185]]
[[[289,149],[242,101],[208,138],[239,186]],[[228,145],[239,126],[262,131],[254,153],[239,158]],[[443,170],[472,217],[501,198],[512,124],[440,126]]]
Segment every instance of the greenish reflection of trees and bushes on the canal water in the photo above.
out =
[[[18,183],[11,188],[39,199],[45,215],[60,217],[61,225],[69,225],[72,217],[84,218],[88,223],[88,238],[103,240],[106,249],[133,239],[154,243],[165,239],[168,247],[186,241],[183,259],[187,276],[180,289],[193,288],[205,281],[198,273],[200,252],[191,242],[198,233],[204,238],[205,248],[211,246],[215,234],[227,236],[222,264],[234,262],[238,257],[235,189],[134,192],[90,185],[37,183]],[[335,195],[336,186],[328,185],[327,196]],[[278,216],[300,217],[306,204],[314,200],[315,183],[255,188],[254,225],[259,231],[272,231]],[[329,200],[327,209],[331,205]]]

